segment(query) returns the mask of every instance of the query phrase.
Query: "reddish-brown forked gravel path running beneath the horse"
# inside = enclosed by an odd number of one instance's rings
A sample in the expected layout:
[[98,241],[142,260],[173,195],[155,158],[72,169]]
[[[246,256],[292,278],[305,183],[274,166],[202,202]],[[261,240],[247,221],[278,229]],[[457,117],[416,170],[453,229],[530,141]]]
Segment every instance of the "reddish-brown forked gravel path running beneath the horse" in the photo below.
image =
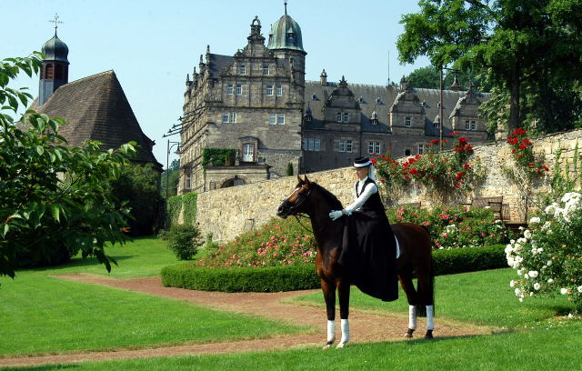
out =
[[[263,316],[282,320],[299,326],[312,326],[315,333],[293,336],[276,336],[258,340],[244,340],[226,343],[201,345],[163,346],[146,349],[119,349],[115,351],[66,353],[50,356],[0,357],[0,366],[31,366],[54,363],[73,363],[83,361],[108,360],[119,358],[137,358],[152,356],[184,356],[201,354],[220,354],[240,351],[260,351],[271,349],[288,349],[290,347],[319,347],[326,339],[326,313],[323,307],[297,306],[287,303],[287,298],[313,293],[318,290],[292,291],[282,293],[220,293],[186,290],[183,288],[164,287],[160,277],[139,279],[115,279],[96,275],[60,275],[59,277],[94,285],[112,286],[128,291],[146,293],[154,296],[171,297],[197,305],[216,308],[223,311]],[[339,322],[338,319],[336,319]],[[402,314],[377,315],[350,311],[350,342],[402,341],[406,333],[408,319]],[[417,336],[426,331],[424,318],[418,320]],[[470,336],[488,334],[486,327],[467,326],[467,324],[436,318],[435,336]],[[339,325],[336,339],[341,337]]]

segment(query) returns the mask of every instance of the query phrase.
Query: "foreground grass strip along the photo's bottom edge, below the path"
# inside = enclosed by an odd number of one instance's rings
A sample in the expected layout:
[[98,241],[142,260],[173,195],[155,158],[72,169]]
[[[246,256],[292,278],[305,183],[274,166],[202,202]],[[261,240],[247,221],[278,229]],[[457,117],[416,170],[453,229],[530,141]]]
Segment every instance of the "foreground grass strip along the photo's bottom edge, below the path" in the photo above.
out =
[[217,356],[175,356],[7,368],[50,371],[93,370],[575,370],[580,366],[579,321],[527,333],[440,338],[398,343],[352,344],[344,349],[296,349]]

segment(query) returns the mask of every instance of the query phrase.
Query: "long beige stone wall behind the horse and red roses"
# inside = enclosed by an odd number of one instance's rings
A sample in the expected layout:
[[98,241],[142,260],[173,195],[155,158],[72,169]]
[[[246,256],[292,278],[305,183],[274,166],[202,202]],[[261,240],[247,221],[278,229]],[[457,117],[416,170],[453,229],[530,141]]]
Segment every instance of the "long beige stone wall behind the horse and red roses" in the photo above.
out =
[[[534,143],[535,151],[545,155],[546,164],[550,169],[554,168],[557,152],[561,151],[560,164],[564,168],[568,162],[570,166],[565,168],[565,171],[571,171],[572,159],[581,137],[582,130],[548,135]],[[527,216],[520,188],[509,181],[501,170],[501,159],[511,158],[509,146],[502,143],[480,145],[475,149],[476,155],[480,156],[483,164],[487,166],[487,178],[474,195],[469,195],[466,200],[459,200],[459,202],[470,201],[474,196],[503,196],[503,203],[509,213],[508,218],[516,221],[525,220]],[[355,178],[351,167],[312,173],[307,176],[335,194],[344,205],[352,202],[351,185]],[[211,233],[215,240],[232,240],[239,234],[262,226],[275,217],[276,207],[293,191],[296,181],[296,176],[285,176],[276,180],[199,194],[196,220],[205,236]],[[543,194],[547,188],[543,182],[540,182],[535,191]],[[396,197],[396,200],[386,200],[388,201],[386,203],[405,204],[420,201],[422,207],[426,208],[433,204],[433,200],[419,190]],[[531,210],[531,206],[529,207]]]

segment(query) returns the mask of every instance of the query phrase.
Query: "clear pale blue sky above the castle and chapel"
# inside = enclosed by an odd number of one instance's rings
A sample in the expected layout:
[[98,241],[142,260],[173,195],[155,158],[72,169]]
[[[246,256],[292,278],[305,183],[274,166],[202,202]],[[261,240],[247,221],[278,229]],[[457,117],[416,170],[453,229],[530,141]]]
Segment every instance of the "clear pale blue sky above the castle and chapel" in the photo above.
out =
[[[233,55],[246,45],[258,15],[262,33],[284,14],[283,0],[19,0],[3,2],[0,59],[40,51],[54,35],[49,20],[64,22],[58,36],[69,47],[69,81],[107,70],[124,88],[142,129],[156,141],[154,155],[166,166],[164,133],[182,114],[186,74],[206,53]],[[396,39],[401,16],[416,13],[416,1],[288,0],[287,13],[301,26],[306,79],[384,85],[417,67],[399,65]],[[389,58],[388,58],[389,55]],[[38,77],[19,78],[38,95]],[[179,140],[178,135],[170,140]],[[176,155],[170,155],[170,162]]]

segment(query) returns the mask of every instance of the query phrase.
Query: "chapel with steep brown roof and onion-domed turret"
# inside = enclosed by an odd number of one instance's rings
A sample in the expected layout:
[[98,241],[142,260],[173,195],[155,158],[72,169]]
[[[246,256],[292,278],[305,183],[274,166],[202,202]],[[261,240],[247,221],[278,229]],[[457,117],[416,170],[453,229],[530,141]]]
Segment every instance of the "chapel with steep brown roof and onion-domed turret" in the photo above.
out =
[[39,94],[30,109],[65,118],[59,135],[67,145],[80,146],[86,140],[101,142],[100,148],[117,148],[130,141],[138,145],[130,160],[152,164],[161,172],[152,149],[154,141],[142,131],[124,90],[113,70],[68,82],[69,49],[56,35],[42,47],[45,55],[40,74]]

